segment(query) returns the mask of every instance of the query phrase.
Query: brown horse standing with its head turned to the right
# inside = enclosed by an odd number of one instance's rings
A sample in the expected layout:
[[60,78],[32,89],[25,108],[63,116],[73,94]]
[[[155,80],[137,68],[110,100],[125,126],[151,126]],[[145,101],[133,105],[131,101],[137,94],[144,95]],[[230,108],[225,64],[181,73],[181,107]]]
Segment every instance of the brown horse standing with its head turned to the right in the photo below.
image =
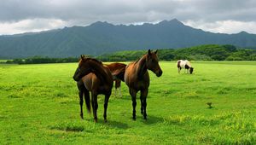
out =
[[125,84],[129,87],[131,95],[132,107],[133,107],[133,119],[136,119],[136,96],[137,92],[141,91],[141,113],[144,119],[147,119],[146,107],[147,107],[147,96],[149,86],[149,75],[148,70],[151,70],[156,74],[157,77],[162,75],[162,70],[158,63],[157,50],[151,52],[148,49],[148,53],[143,55],[141,59],[136,62],[131,62],[125,69]]

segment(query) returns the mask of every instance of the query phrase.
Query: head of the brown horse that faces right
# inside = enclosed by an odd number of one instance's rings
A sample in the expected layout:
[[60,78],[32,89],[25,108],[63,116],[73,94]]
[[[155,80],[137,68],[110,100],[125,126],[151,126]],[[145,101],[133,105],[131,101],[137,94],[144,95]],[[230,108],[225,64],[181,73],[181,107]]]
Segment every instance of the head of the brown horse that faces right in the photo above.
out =
[[158,63],[157,50],[151,52],[150,49],[148,49],[148,54],[146,55],[146,65],[150,71],[156,74],[157,77],[162,75],[163,71]]

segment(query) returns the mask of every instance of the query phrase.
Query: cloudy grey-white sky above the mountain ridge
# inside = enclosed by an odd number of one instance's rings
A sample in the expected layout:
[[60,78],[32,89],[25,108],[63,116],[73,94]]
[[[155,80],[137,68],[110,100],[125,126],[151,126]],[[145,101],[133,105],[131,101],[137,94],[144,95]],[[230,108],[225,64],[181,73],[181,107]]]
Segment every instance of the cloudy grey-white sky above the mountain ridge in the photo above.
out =
[[256,0],[0,0],[0,35],[172,19],[207,32],[256,34]]

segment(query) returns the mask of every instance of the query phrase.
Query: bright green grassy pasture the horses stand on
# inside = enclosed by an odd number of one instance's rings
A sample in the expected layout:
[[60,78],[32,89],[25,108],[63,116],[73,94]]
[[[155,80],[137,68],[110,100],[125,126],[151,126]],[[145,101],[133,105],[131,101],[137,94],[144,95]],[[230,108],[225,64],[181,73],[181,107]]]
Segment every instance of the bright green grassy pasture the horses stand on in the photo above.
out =
[[256,144],[256,61],[192,64],[192,75],[177,74],[175,62],[160,62],[160,78],[150,73],[147,121],[138,99],[131,119],[123,83],[123,96],[110,97],[108,123],[103,96],[98,123],[79,118],[77,63],[0,64],[0,144]]

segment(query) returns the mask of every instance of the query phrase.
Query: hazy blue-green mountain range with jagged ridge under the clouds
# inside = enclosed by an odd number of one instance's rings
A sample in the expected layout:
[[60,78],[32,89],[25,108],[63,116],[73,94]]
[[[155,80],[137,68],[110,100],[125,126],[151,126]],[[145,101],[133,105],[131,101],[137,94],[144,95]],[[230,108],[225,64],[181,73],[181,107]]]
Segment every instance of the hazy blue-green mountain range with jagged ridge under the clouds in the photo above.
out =
[[232,44],[242,48],[256,48],[256,35],[247,32],[205,32],[186,26],[177,19],[129,26],[98,21],[90,26],[2,35],[0,58],[102,55],[120,50],[177,49],[201,44]]

